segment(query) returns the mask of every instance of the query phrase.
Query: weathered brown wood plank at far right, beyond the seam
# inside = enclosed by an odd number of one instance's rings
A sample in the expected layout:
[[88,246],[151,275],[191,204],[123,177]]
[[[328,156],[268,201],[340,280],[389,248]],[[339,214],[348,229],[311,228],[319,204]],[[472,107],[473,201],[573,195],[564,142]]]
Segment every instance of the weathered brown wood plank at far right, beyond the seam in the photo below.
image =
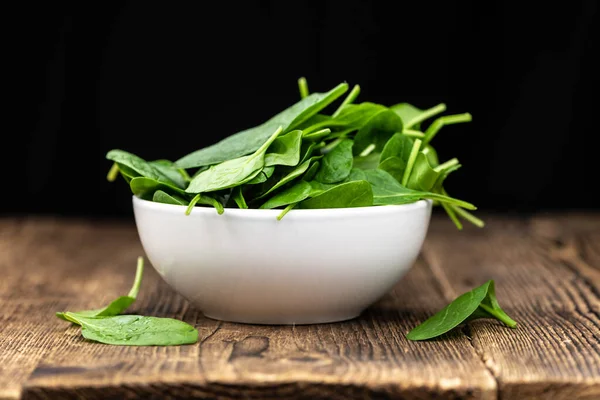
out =
[[[424,255],[446,296],[494,279],[500,304],[519,322],[516,330],[490,320],[469,324],[500,398],[600,398],[600,241],[589,240],[600,225],[589,222],[492,218],[461,234],[446,221],[432,227]],[[573,258],[574,238],[585,242],[589,262]]]

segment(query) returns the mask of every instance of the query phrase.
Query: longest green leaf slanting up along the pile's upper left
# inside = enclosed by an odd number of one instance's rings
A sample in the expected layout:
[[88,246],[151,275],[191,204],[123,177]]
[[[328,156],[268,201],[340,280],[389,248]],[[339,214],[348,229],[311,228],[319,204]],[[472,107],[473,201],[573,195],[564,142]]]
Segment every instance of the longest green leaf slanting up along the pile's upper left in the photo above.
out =
[[277,127],[281,126],[284,132],[295,129],[347,90],[348,84],[342,83],[329,92],[312,93],[265,123],[228,136],[212,146],[188,154],[177,160],[175,164],[180,168],[195,168],[250,154],[260,148]]

